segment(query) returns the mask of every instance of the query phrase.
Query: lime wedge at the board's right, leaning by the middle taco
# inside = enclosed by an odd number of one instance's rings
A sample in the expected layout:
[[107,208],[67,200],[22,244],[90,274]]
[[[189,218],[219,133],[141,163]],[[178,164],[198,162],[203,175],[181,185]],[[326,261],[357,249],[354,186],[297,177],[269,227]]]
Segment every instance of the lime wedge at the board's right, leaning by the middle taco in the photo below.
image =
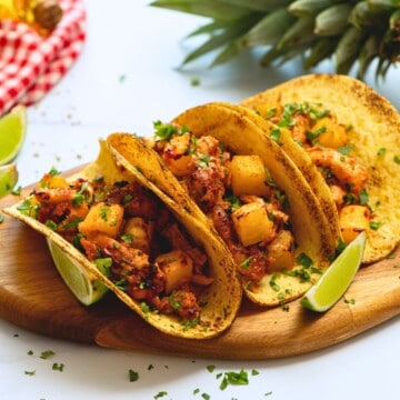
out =
[[312,311],[327,311],[346,292],[362,260],[366,232],[360,233],[323,272],[318,282],[301,298],[300,303]]

